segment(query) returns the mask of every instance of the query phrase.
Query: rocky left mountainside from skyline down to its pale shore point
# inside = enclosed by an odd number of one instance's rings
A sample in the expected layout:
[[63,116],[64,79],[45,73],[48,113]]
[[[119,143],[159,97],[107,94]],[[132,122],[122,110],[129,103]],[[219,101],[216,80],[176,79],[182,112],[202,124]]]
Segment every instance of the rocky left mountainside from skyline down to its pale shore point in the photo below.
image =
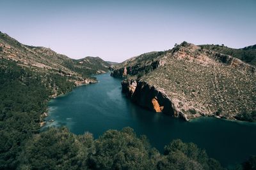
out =
[[[108,62],[99,57],[85,57],[84,59],[70,59],[42,46],[28,46],[19,43],[8,34],[0,32],[0,59],[15,62],[17,66],[26,67],[33,73],[44,74],[45,81],[52,80],[52,75],[61,76],[74,86],[87,83],[95,83],[92,74],[106,73],[109,71]],[[53,87],[53,96],[63,94],[58,92],[60,88],[56,83],[50,83]],[[51,86],[50,85],[50,86]]]

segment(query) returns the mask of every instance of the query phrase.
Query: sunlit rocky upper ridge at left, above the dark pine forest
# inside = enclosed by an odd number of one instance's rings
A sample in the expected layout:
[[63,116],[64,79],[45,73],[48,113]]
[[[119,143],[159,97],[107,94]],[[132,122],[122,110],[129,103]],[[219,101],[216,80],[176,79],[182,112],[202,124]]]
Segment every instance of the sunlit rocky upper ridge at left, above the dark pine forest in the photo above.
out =
[[78,73],[82,76],[90,76],[90,74],[105,73],[110,66],[108,62],[99,57],[75,60],[56,53],[50,48],[22,45],[19,41],[2,32],[0,32],[0,51],[0,57],[3,59],[15,60],[23,66],[35,67],[36,69],[55,71],[61,69],[64,74],[68,75],[77,76]]

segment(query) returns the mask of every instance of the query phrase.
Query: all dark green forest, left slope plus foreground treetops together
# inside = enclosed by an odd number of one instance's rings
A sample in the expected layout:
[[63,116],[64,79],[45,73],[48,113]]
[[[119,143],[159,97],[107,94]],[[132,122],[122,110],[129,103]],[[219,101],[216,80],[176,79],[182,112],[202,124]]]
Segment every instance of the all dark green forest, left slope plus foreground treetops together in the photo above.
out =
[[65,76],[36,73],[10,60],[0,60],[0,68],[0,169],[221,169],[196,145],[180,140],[162,155],[129,127],[109,130],[99,139],[65,127],[40,132],[49,96],[54,89],[68,92],[72,85]]

